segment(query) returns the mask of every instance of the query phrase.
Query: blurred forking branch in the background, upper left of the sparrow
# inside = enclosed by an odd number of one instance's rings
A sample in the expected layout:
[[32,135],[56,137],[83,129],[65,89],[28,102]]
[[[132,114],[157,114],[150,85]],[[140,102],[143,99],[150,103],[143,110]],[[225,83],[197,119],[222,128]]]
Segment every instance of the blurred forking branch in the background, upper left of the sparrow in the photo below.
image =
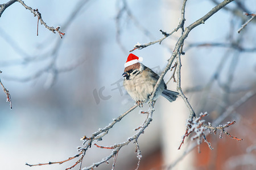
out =
[[[72,25],[71,23],[75,20],[75,18],[78,16],[78,14],[80,14],[81,10],[84,9],[84,6],[88,4],[88,2],[90,2],[90,0],[80,0],[76,6],[74,7],[74,9],[72,10],[71,14],[69,14],[67,20],[65,20],[65,23],[62,24],[63,26],[61,27],[63,30],[67,29],[68,27],[70,27],[70,25]],[[36,12],[36,10],[35,10]],[[56,31],[59,31],[59,28],[56,28]],[[21,62],[2,62],[1,65],[6,66],[6,65],[14,65],[14,64],[27,64],[30,62],[36,62],[36,61],[43,61],[45,59],[50,58],[51,62],[48,62],[48,64],[46,66],[44,66],[42,69],[36,70],[32,73],[32,75],[28,75],[25,77],[16,77],[16,76],[5,76],[5,79],[8,80],[13,80],[13,81],[19,81],[19,82],[28,82],[31,80],[34,80],[36,78],[39,78],[40,76],[42,76],[43,74],[47,73],[49,78],[47,79],[47,83],[46,83],[46,87],[51,87],[53,85],[53,83],[56,82],[57,79],[57,75],[60,73],[64,73],[65,71],[70,71],[75,69],[77,66],[81,65],[82,63],[84,63],[84,61],[86,61],[87,58],[81,58],[79,60],[77,60],[74,63],[69,64],[69,66],[67,67],[56,67],[56,60],[58,58],[58,53],[59,50],[61,49],[61,44],[64,41],[61,41],[61,39],[57,39],[56,43],[52,46],[52,48],[50,48],[50,50],[48,52],[44,52],[41,55],[36,55],[36,56],[31,56],[30,54],[27,54],[25,52],[25,50],[23,50],[17,42],[15,42],[14,39],[11,38],[10,35],[8,35],[6,32],[4,32],[1,28],[0,28],[0,33],[1,35],[4,37],[4,39],[11,45],[11,47],[18,52],[19,54],[21,54],[23,56],[23,61]],[[60,34],[61,35],[61,34]],[[48,44],[48,43],[45,43]]]

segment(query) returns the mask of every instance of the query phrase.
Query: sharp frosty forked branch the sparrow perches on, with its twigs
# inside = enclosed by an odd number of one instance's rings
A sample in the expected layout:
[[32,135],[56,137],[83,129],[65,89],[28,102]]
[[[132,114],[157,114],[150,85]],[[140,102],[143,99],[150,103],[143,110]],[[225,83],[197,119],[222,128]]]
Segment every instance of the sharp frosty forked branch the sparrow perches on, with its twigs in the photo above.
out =
[[[147,113],[148,114],[147,118],[143,122],[142,126],[135,129],[135,130],[137,130],[137,133],[135,133],[132,137],[127,139],[127,141],[122,142],[122,143],[118,143],[116,145],[112,145],[112,146],[97,145],[97,141],[103,140],[105,135],[108,134],[109,130],[111,130],[117,122],[121,121],[123,117],[125,117],[128,113],[130,113],[136,107],[138,107],[138,105],[134,105],[128,111],[121,114],[121,116],[119,116],[118,118],[115,118],[113,120],[113,122],[111,122],[105,128],[97,130],[95,133],[93,133],[89,137],[86,136],[86,135],[84,137],[82,137],[81,140],[84,141],[83,146],[79,147],[79,149],[78,149],[79,152],[82,153],[82,154],[78,156],[79,160],[77,160],[77,162],[75,164],[73,164],[72,167],[75,167],[77,164],[80,163],[80,169],[81,169],[81,162],[86,156],[86,151],[88,151],[91,147],[95,146],[95,147],[98,147],[98,148],[108,149],[108,150],[113,150],[113,151],[110,155],[103,158],[100,162],[93,163],[93,164],[91,164],[88,167],[85,167],[83,169],[93,169],[95,167],[98,167],[101,164],[108,163],[109,160],[112,159],[112,158],[114,160],[114,162],[113,162],[113,169],[114,169],[115,162],[116,162],[117,156],[118,156],[118,152],[121,150],[122,147],[124,147],[126,145],[129,145],[133,141],[135,143],[135,148],[137,150],[138,159],[139,159],[138,166],[137,166],[137,169],[138,169],[140,160],[142,158],[141,150],[139,149],[138,138],[141,136],[141,134],[144,133],[144,130],[147,128],[148,125],[150,125],[150,122],[152,121],[152,114],[154,112],[153,98],[155,96],[156,90],[158,89],[158,86],[159,86],[160,82],[162,82],[162,80],[163,80],[164,76],[166,75],[167,71],[170,70],[170,68],[172,66],[172,63],[174,62],[174,59],[177,59],[177,64],[176,64],[176,66],[174,66],[174,67],[176,67],[176,74],[177,74],[177,91],[179,91],[180,96],[183,98],[185,104],[187,105],[187,107],[189,109],[189,118],[188,118],[188,123],[187,123],[187,131],[185,132],[184,138],[188,137],[189,134],[195,133],[195,135],[193,135],[192,139],[197,139],[197,143],[196,143],[197,145],[199,145],[201,143],[202,139],[204,139],[205,142],[208,144],[208,146],[210,148],[212,148],[210,146],[210,143],[206,139],[205,130],[215,128],[215,129],[221,130],[222,133],[223,133],[225,131],[224,129],[227,128],[228,125],[234,124],[234,122],[232,124],[229,123],[227,125],[213,127],[213,126],[204,124],[204,120],[202,120],[202,118],[204,116],[206,116],[206,114],[200,114],[199,117],[196,117],[195,111],[193,111],[193,108],[191,107],[191,104],[187,100],[187,97],[184,95],[182,87],[181,87],[181,83],[180,83],[180,79],[181,79],[181,74],[180,74],[181,54],[184,54],[183,45],[184,45],[185,39],[189,35],[189,32],[191,32],[192,29],[194,29],[198,25],[204,24],[210,18],[210,16],[215,14],[217,11],[221,10],[221,8],[225,7],[226,5],[228,5],[228,3],[232,2],[232,1],[234,1],[234,0],[225,0],[225,1],[221,2],[220,4],[215,6],[212,10],[210,10],[207,14],[205,14],[202,18],[196,20],[195,22],[190,24],[188,27],[184,28],[185,5],[186,5],[186,2],[187,2],[187,0],[184,0],[183,5],[181,7],[180,22],[173,31],[171,31],[170,33],[167,33],[167,32],[164,32],[164,31],[161,30],[160,32],[162,32],[162,34],[164,35],[164,37],[162,39],[156,40],[154,42],[148,42],[147,44],[144,44],[144,45],[141,45],[141,44],[138,43],[137,45],[134,46],[134,49],[132,49],[131,51],[133,51],[135,49],[146,48],[149,45],[156,44],[156,42],[161,43],[164,39],[171,36],[172,33],[178,31],[179,29],[181,30],[181,35],[180,35],[179,39],[176,42],[175,48],[172,52],[172,55],[168,59],[167,66],[163,70],[162,74],[160,74],[160,78],[159,78],[158,82],[156,83],[156,85],[154,87],[154,91],[152,92],[152,95],[150,96],[150,104],[149,104],[150,105],[150,111],[148,111],[148,113]],[[212,130],[214,130],[214,129],[212,129]],[[227,133],[227,131],[226,131],[225,134],[229,135],[229,133]],[[183,138],[183,142],[184,142],[184,138]],[[182,145],[183,142],[181,142],[181,145]]]

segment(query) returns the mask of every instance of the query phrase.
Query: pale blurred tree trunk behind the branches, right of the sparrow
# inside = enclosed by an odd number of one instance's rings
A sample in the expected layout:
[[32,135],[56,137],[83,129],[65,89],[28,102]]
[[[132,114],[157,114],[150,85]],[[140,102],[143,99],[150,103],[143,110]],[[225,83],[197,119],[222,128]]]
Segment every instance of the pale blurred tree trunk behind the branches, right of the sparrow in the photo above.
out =
[[[183,1],[163,0],[162,1],[162,16],[163,19],[163,31],[170,32],[176,28],[179,23],[180,9]],[[176,35],[180,36],[180,32],[176,32]],[[175,36],[175,33],[174,35]],[[170,43],[168,43],[170,44]],[[175,41],[171,42],[170,49],[175,46]],[[170,58],[170,51],[164,53],[164,58]],[[181,87],[185,89],[188,84],[191,84],[191,78],[189,77],[189,65],[188,57],[181,56]],[[173,63],[174,64],[174,63]],[[170,77],[170,76],[168,76]],[[175,78],[176,78],[175,74]],[[165,79],[167,82],[167,79]],[[176,91],[176,83],[171,80],[168,84],[169,90]],[[162,109],[162,152],[165,165],[173,163],[179,155],[183,153],[189,142],[185,142],[181,146],[181,150],[177,150],[180,145],[181,137],[185,133],[185,120],[188,118],[188,108],[185,106],[184,101],[181,97],[178,97],[176,101],[170,103],[167,100],[161,100]],[[193,169],[193,153],[185,156],[174,169]]]

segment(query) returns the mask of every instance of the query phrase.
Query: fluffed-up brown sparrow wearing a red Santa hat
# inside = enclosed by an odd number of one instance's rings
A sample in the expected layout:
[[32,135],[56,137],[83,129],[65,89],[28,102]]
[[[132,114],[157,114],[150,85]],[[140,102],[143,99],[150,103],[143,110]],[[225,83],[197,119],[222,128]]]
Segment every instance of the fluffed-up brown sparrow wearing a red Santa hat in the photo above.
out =
[[[139,107],[143,107],[143,103],[150,99],[155,84],[158,82],[159,75],[139,61],[142,61],[141,57],[130,53],[122,76],[124,77],[123,87],[125,87],[128,94],[136,101]],[[157,99],[160,95],[172,102],[176,100],[179,93],[167,90],[166,83],[162,80],[156,90],[154,99]]]

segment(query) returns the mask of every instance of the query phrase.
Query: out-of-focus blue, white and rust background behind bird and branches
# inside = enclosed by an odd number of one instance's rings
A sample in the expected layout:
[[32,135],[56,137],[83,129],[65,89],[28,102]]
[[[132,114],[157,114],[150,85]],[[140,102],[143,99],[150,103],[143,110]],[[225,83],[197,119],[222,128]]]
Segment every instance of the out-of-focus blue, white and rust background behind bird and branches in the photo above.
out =
[[[1,1],[6,3],[8,1]],[[201,18],[220,1],[188,1],[185,27]],[[65,160],[79,152],[80,138],[90,137],[134,105],[122,86],[123,64],[129,50],[139,42],[146,44],[163,37],[159,29],[171,32],[180,19],[182,2],[162,1],[38,1],[26,0],[38,8],[44,22],[60,26],[66,33],[60,39],[39,24],[37,18],[19,2],[8,7],[0,18],[1,82],[9,90],[13,109],[0,93],[1,169],[65,169],[77,159],[61,165],[28,167],[28,164]],[[197,147],[175,164],[189,146],[177,150],[185,133],[189,110],[179,97],[174,103],[159,98],[153,121],[138,142],[142,151],[139,169],[255,169],[256,113],[256,24],[255,18],[242,31],[237,30],[256,11],[253,0],[235,1],[218,11],[205,24],[189,33],[181,57],[181,87],[196,114],[208,112],[214,122],[226,109],[248,97],[228,118],[236,125],[226,129],[243,138],[238,142],[226,135],[208,135],[208,142]],[[167,65],[180,31],[162,44],[133,53],[143,57],[144,65],[156,73]],[[168,72],[164,80],[172,75]],[[168,89],[176,90],[170,80]],[[112,146],[127,141],[143,124],[147,106],[137,108],[118,122],[97,142]],[[92,146],[82,167],[99,162],[112,150]],[[113,161],[113,160],[112,160]],[[183,161],[183,163],[182,163]],[[116,169],[137,167],[135,145],[123,147]],[[97,169],[111,169],[102,164]],[[74,169],[79,169],[75,167]]]

